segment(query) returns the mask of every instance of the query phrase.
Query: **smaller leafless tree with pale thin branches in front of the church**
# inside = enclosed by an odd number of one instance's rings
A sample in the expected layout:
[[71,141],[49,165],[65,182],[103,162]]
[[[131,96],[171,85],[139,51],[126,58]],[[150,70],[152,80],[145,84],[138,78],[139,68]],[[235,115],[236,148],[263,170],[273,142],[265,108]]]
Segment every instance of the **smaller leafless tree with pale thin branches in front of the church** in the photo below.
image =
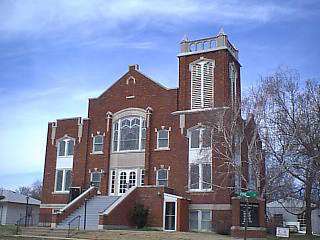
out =
[[[259,131],[253,115],[248,115],[247,120],[241,117],[242,108],[244,106],[240,103],[214,108],[190,130],[192,144],[196,142],[195,145],[199,146],[196,150],[191,146],[190,187],[202,185],[207,189],[226,190],[233,195],[250,189],[264,197],[265,169]],[[193,136],[200,139],[199,142],[193,140]],[[213,169],[212,174],[207,170],[209,168]],[[193,181],[199,179],[201,171],[202,183]]]

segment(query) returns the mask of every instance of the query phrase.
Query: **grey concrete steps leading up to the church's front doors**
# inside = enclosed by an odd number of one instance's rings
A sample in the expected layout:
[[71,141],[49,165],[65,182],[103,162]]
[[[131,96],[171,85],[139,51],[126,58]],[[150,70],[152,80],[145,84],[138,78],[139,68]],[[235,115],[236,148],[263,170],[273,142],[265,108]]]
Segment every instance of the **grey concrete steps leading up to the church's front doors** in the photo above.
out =
[[[87,213],[86,213],[86,230],[98,230],[99,224],[99,213],[106,210],[112,205],[119,197],[117,196],[95,196],[87,202]],[[84,229],[84,204],[71,213],[64,221],[57,225],[57,229],[68,229],[68,223],[80,216],[80,219],[75,219],[71,223],[71,228],[77,228],[80,224],[80,229]]]

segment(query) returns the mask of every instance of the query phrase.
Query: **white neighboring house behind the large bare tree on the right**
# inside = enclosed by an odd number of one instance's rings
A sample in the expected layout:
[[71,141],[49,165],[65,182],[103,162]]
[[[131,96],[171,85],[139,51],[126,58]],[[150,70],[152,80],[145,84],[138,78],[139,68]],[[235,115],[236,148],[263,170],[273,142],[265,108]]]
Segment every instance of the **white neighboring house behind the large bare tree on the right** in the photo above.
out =
[[[295,198],[280,199],[267,203],[267,216],[273,222],[283,226],[296,225],[298,230],[305,232],[305,202]],[[320,234],[320,208],[311,212],[312,231]]]

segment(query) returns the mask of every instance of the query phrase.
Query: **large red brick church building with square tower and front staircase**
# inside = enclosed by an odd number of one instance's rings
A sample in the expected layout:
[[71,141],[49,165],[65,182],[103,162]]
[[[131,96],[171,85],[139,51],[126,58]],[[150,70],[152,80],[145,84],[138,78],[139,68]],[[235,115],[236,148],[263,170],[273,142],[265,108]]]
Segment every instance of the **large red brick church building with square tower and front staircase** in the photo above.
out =
[[[130,214],[140,203],[149,209],[148,227],[240,236],[238,194],[251,189],[258,197],[250,200],[248,236],[264,235],[264,161],[253,117],[238,117],[234,152],[226,150],[220,129],[230,130],[232,110],[241,103],[238,50],[220,31],[183,39],[178,61],[177,88],[130,65],[99,97],[89,99],[87,118],[48,124],[42,221],[49,216],[57,228],[74,219],[85,229],[130,228]],[[214,129],[221,116],[229,117]],[[252,139],[261,153],[257,158],[250,158],[245,144]],[[260,179],[251,167],[257,163]]]

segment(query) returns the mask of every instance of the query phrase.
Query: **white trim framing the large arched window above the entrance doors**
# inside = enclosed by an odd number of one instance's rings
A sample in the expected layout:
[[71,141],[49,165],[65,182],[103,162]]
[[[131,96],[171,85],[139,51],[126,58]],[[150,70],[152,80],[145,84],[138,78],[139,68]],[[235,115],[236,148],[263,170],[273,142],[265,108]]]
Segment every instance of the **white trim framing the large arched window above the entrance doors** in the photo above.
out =
[[[120,139],[121,139],[121,121],[123,119],[126,118],[130,118],[130,117],[136,117],[139,118],[140,120],[140,127],[139,127],[139,149],[133,149],[133,150],[120,150]],[[139,115],[128,115],[128,116],[124,116],[122,118],[117,119],[117,121],[115,121],[112,124],[112,153],[125,153],[125,152],[144,152],[145,148],[142,149],[142,123],[143,121],[146,121],[146,119],[142,116]],[[115,123],[118,123],[118,138],[117,138],[117,150],[114,150],[114,125]]]

